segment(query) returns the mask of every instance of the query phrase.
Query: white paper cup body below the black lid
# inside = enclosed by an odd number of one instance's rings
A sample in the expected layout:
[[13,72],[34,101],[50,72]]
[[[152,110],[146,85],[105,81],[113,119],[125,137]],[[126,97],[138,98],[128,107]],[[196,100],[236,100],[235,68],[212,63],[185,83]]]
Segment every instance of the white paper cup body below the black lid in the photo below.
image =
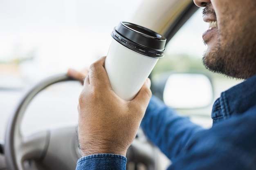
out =
[[158,58],[132,51],[113,39],[105,61],[112,89],[124,100],[133,99],[157,61]]

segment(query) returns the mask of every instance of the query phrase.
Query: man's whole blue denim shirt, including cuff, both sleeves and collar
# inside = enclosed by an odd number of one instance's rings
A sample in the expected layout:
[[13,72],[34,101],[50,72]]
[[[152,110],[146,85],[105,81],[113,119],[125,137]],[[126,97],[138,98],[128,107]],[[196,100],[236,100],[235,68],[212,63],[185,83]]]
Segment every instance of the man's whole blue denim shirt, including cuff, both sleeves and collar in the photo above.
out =
[[[152,97],[141,128],[172,161],[168,170],[256,170],[256,76],[223,92],[204,129]],[[121,155],[82,157],[76,170],[125,170]]]

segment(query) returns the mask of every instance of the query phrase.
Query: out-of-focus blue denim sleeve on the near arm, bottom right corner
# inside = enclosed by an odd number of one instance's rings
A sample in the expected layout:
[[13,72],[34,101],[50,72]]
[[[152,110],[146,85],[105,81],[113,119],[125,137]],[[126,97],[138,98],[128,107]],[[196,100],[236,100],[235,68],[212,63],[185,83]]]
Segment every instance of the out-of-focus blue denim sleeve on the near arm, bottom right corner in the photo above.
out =
[[256,106],[194,135],[168,170],[256,170]]

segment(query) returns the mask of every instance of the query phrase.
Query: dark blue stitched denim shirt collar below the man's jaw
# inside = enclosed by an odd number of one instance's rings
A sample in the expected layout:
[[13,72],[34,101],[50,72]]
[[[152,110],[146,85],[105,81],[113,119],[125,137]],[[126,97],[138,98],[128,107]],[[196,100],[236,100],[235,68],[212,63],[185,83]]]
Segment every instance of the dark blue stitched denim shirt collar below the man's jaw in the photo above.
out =
[[213,105],[213,122],[227,119],[234,114],[242,114],[256,105],[256,75],[222,92]]

